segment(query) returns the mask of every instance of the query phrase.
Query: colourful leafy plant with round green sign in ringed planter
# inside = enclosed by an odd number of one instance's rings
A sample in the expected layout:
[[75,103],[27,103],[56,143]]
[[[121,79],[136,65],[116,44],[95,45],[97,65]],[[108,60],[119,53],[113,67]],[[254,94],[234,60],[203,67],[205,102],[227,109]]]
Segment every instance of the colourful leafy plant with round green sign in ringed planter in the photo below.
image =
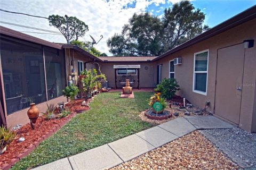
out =
[[155,114],[163,113],[167,107],[167,102],[164,97],[161,97],[161,93],[154,94],[148,99],[148,104],[151,106],[152,112]]

